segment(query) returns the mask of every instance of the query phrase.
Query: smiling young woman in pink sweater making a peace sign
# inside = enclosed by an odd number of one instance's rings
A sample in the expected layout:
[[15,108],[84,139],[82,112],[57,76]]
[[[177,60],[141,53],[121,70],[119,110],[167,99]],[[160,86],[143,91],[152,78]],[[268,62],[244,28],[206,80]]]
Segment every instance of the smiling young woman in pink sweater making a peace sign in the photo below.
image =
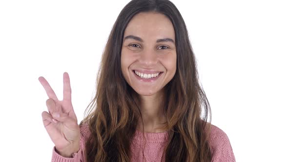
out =
[[69,76],[43,124],[52,162],[235,162],[226,134],[208,121],[185,22],[169,0],[132,0],[107,41],[96,96],[78,125]]

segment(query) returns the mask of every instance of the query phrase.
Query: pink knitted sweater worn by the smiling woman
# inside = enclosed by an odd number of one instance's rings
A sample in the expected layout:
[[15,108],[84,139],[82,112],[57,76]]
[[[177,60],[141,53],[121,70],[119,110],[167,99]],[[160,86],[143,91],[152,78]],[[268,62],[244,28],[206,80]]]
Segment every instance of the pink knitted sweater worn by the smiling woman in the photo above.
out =
[[[82,125],[80,127],[81,131],[81,146],[77,153],[73,153],[73,158],[65,158],[59,155],[55,151],[55,146],[52,152],[51,162],[84,162],[83,149],[85,149],[84,144],[88,139],[90,131],[88,125]],[[136,130],[136,134],[131,143],[131,161],[132,162],[144,162],[142,159],[145,158],[146,162],[160,162],[163,155],[164,146],[168,140],[168,133],[144,133],[146,137],[147,144],[144,148],[144,157],[142,153],[142,146],[144,142],[144,137],[142,132]],[[212,155],[211,162],[235,162],[235,157],[233,154],[232,147],[230,145],[229,139],[224,131],[218,127],[212,125],[211,136],[210,136],[210,149]]]

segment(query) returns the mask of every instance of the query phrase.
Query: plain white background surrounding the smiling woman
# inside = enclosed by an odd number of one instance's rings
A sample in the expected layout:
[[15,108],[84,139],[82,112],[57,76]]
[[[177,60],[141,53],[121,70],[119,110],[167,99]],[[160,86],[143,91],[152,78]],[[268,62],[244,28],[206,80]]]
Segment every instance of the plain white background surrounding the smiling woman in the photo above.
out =
[[[68,72],[80,122],[109,32],[129,0],[0,1],[0,152],[5,162],[50,162],[43,76],[62,100]],[[237,162],[288,162],[286,0],[172,0],[195,52],[212,124]]]

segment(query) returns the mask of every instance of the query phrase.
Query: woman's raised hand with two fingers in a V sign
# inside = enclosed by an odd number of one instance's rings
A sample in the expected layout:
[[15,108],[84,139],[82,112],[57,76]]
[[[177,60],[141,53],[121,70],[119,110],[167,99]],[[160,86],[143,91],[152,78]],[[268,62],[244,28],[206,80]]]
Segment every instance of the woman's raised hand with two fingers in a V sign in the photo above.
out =
[[80,147],[80,128],[71,102],[71,86],[68,73],[63,73],[63,100],[59,101],[49,83],[39,77],[49,99],[46,101],[48,112],[42,112],[46,131],[57,151],[62,156],[71,156]]

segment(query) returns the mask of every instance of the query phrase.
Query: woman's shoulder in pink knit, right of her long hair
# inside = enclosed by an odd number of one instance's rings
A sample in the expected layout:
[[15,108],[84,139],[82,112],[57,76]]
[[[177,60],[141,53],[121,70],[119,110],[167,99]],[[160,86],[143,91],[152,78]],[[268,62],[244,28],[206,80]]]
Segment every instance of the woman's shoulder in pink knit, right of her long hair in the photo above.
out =
[[234,153],[226,133],[211,124],[209,138],[212,162],[235,162]]

